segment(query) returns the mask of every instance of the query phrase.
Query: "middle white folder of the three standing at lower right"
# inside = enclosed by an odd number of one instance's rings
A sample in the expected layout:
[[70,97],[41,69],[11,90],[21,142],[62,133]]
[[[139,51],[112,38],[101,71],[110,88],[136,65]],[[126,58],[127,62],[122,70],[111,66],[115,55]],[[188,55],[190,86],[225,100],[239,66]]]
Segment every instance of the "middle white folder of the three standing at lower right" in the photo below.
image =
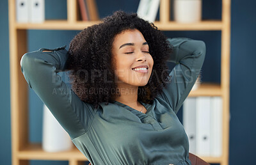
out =
[[196,154],[210,156],[211,97],[196,98]]

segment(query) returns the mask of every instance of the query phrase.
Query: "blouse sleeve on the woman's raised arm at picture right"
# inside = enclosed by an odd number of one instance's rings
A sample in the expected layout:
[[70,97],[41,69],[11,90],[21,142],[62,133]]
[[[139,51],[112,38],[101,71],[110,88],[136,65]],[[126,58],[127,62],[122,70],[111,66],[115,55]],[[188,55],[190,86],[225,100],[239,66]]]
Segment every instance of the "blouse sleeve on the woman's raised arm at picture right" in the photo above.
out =
[[173,47],[168,61],[175,63],[170,72],[171,81],[160,96],[177,114],[195,84],[205,58],[205,43],[190,38],[168,38]]

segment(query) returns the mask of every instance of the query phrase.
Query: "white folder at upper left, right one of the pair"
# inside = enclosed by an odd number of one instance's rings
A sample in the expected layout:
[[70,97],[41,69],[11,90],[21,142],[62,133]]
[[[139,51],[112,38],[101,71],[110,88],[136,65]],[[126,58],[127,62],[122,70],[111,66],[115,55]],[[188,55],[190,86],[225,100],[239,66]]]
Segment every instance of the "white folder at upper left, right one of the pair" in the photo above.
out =
[[29,0],[29,22],[41,23],[45,20],[45,2],[44,0]]

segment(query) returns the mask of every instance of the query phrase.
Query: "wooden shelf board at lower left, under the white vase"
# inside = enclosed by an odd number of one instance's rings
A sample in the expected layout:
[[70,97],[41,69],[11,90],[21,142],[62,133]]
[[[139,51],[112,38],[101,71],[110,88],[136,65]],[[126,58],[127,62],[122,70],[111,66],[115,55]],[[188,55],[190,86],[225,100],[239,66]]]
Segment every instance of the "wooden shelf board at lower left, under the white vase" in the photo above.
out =
[[18,152],[19,159],[23,160],[54,160],[54,161],[68,161],[76,159],[79,161],[88,161],[77,148],[72,148],[65,152],[45,152],[41,143],[30,143],[23,150]]

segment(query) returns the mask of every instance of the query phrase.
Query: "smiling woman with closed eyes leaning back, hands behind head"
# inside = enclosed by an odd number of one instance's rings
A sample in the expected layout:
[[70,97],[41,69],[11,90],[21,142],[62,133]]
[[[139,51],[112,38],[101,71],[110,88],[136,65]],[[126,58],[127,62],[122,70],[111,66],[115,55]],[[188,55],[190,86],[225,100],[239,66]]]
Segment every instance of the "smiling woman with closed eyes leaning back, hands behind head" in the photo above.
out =
[[[65,47],[28,52],[22,73],[92,164],[191,164],[176,114],[204,63],[205,43],[172,38],[115,12]],[[166,61],[176,63],[171,72]],[[70,70],[72,90],[57,74]]]

